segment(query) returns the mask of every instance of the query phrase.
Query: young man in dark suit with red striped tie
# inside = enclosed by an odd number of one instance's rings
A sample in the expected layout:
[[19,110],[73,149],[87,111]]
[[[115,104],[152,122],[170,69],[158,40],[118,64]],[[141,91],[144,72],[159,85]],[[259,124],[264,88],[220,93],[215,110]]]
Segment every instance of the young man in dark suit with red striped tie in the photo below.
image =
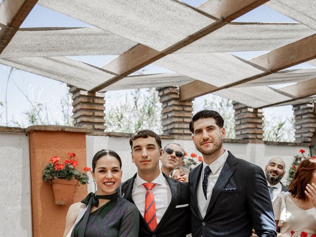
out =
[[137,173],[121,188],[140,212],[139,237],[185,237],[191,233],[189,183],[160,171],[161,140],[155,132],[137,131],[129,143]]

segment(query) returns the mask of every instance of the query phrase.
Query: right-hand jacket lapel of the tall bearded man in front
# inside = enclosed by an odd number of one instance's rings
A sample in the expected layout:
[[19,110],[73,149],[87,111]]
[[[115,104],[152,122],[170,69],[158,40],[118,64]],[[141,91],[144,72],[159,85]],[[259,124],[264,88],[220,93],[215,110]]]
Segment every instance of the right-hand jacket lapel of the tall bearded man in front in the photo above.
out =
[[222,189],[228,183],[229,179],[232,177],[234,171],[236,170],[236,167],[234,166],[235,164],[237,164],[237,159],[229,152],[227,160],[224,163],[222,171],[213,188],[212,196],[209,201],[205,217],[207,216],[207,213],[210,211],[210,209],[214,205],[220,193],[222,192]]

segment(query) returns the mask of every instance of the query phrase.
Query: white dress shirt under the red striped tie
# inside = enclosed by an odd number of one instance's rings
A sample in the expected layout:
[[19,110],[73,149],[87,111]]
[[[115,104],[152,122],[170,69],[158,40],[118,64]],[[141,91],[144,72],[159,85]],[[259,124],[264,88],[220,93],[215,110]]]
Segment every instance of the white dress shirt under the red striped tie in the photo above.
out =
[[[148,182],[139,177],[137,173],[137,176],[134,180],[132,197],[135,205],[137,206],[139,212],[143,217],[145,212],[145,196],[147,191],[143,185],[144,183]],[[171,202],[171,190],[167,180],[163,177],[161,171],[158,177],[151,183],[157,183],[156,186],[152,189],[152,193],[154,195],[156,203],[156,217],[158,224]]]

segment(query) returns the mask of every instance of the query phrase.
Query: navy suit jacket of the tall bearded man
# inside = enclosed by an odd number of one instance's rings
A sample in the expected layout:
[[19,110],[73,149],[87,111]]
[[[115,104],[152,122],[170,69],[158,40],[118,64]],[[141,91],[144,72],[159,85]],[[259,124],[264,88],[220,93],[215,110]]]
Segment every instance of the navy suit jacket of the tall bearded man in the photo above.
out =
[[213,188],[206,215],[197,206],[197,183],[203,164],[189,175],[193,237],[276,237],[276,225],[263,170],[230,152]]

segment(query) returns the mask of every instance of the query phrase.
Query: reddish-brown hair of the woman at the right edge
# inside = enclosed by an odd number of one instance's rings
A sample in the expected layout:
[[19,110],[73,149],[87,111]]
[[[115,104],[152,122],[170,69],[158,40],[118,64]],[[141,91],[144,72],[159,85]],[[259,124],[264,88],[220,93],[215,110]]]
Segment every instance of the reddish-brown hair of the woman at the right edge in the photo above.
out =
[[315,169],[316,163],[311,162],[310,159],[304,159],[300,162],[294,173],[293,181],[288,188],[288,192],[290,192],[293,197],[297,197],[304,201],[308,200],[304,191],[306,190],[305,187],[307,184],[311,182]]

